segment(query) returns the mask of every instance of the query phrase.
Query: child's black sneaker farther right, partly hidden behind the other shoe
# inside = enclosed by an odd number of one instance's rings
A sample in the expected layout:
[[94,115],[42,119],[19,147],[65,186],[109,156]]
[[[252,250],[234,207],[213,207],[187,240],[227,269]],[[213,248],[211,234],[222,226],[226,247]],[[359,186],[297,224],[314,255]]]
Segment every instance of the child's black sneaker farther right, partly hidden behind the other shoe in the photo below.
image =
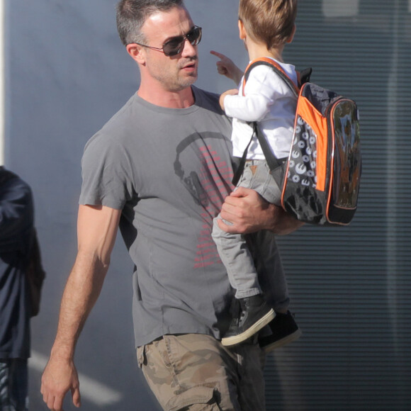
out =
[[293,315],[276,313],[276,317],[269,323],[271,334],[259,336],[259,346],[269,353],[274,349],[295,341],[303,334],[298,328]]

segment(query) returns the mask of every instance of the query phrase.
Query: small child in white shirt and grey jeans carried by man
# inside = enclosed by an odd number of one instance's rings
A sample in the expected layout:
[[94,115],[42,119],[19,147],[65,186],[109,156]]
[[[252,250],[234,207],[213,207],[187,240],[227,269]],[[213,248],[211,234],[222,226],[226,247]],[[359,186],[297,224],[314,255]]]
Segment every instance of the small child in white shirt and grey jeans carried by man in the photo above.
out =
[[[293,40],[296,12],[297,0],[240,0],[238,27],[250,61],[260,57],[275,60],[297,85],[295,67],[284,63],[282,58],[284,46]],[[242,77],[240,69],[225,55],[211,53],[220,58],[218,72],[238,84]],[[257,121],[259,133],[266,138],[275,156],[285,160],[291,148],[296,104],[287,84],[270,67],[254,67],[245,86],[241,81],[238,90],[229,90],[220,96],[221,108],[233,118],[233,155],[242,157],[253,135],[249,122]],[[281,190],[269,172],[255,135],[249,145],[239,186],[254,189],[269,203],[280,204]],[[300,337],[291,313],[276,313],[264,300],[244,236],[221,230],[218,218],[214,220],[213,239],[240,303],[239,316],[232,320],[223,345],[239,344],[267,324],[272,334],[262,337],[260,345],[272,349]]]

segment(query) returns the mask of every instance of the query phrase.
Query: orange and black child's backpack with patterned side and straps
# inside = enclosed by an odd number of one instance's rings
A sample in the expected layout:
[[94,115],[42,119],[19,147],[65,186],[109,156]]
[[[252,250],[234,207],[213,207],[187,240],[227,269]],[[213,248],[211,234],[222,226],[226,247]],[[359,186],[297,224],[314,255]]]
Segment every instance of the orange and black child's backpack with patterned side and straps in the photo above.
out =
[[305,223],[348,225],[356,212],[361,178],[356,103],[310,83],[311,69],[299,74],[297,87],[279,64],[264,57],[249,64],[244,85],[249,72],[259,64],[274,69],[297,98],[293,142],[283,167],[254,123],[271,174],[282,190],[283,209]]

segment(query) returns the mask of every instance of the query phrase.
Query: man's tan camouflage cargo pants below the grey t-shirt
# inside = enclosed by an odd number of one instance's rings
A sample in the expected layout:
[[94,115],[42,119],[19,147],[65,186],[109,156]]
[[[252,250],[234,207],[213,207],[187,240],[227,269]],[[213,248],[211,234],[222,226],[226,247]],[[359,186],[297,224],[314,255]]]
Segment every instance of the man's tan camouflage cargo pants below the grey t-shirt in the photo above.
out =
[[228,350],[208,335],[165,335],[139,347],[137,359],[164,410],[265,410],[258,344]]

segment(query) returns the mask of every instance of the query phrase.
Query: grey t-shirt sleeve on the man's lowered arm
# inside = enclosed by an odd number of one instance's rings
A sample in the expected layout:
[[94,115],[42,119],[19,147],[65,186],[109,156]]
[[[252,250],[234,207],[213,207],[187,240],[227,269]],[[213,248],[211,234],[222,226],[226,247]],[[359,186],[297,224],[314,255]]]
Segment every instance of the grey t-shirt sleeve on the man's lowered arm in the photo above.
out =
[[106,135],[96,134],[81,159],[83,183],[79,203],[123,209],[133,196],[130,159],[124,147]]

